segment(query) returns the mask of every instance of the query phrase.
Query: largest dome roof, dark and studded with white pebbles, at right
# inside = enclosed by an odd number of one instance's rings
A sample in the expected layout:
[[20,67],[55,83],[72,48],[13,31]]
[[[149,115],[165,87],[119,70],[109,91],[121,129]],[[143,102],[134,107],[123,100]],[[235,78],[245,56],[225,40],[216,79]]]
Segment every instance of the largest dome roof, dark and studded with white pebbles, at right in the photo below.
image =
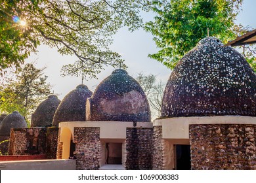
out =
[[256,116],[256,75],[244,57],[207,37],[171,73],[161,117]]

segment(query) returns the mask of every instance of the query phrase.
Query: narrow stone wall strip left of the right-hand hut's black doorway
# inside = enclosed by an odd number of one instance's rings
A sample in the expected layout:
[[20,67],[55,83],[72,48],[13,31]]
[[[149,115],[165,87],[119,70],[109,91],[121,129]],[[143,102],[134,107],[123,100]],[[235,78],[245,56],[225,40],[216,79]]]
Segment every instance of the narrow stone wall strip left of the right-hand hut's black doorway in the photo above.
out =
[[152,169],[163,169],[163,147],[162,147],[162,127],[154,126],[152,138]]

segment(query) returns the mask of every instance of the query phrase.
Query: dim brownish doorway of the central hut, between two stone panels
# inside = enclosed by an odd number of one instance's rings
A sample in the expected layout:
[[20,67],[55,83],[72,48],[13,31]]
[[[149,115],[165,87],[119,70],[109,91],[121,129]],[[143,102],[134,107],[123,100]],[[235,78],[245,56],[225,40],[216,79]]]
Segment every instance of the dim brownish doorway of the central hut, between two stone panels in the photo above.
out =
[[121,165],[122,143],[106,143],[106,163]]

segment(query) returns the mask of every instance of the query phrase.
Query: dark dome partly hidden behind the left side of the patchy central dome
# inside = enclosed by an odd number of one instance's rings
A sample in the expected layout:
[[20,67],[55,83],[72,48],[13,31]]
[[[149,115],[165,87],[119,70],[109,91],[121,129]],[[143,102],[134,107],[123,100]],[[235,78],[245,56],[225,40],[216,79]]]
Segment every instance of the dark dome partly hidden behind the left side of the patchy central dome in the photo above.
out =
[[58,126],[59,122],[85,121],[86,99],[92,94],[93,92],[84,84],[78,85],[75,90],[68,93],[54,114],[53,126]]

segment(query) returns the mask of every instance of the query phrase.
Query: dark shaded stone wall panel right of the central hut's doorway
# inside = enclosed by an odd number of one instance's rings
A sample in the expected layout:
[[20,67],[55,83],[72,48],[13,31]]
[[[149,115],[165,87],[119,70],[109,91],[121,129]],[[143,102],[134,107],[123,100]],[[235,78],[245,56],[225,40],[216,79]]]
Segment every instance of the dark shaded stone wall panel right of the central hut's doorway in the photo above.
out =
[[152,131],[148,128],[126,129],[125,169],[152,169]]

